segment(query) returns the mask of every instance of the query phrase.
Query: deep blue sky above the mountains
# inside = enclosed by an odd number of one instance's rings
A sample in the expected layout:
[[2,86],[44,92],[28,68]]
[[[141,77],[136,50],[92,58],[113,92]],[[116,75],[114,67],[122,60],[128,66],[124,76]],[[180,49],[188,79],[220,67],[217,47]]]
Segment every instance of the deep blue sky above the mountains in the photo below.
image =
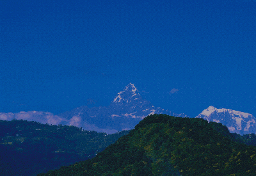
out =
[[256,1],[0,1],[0,112],[108,106],[133,83],[196,116],[256,116]]

